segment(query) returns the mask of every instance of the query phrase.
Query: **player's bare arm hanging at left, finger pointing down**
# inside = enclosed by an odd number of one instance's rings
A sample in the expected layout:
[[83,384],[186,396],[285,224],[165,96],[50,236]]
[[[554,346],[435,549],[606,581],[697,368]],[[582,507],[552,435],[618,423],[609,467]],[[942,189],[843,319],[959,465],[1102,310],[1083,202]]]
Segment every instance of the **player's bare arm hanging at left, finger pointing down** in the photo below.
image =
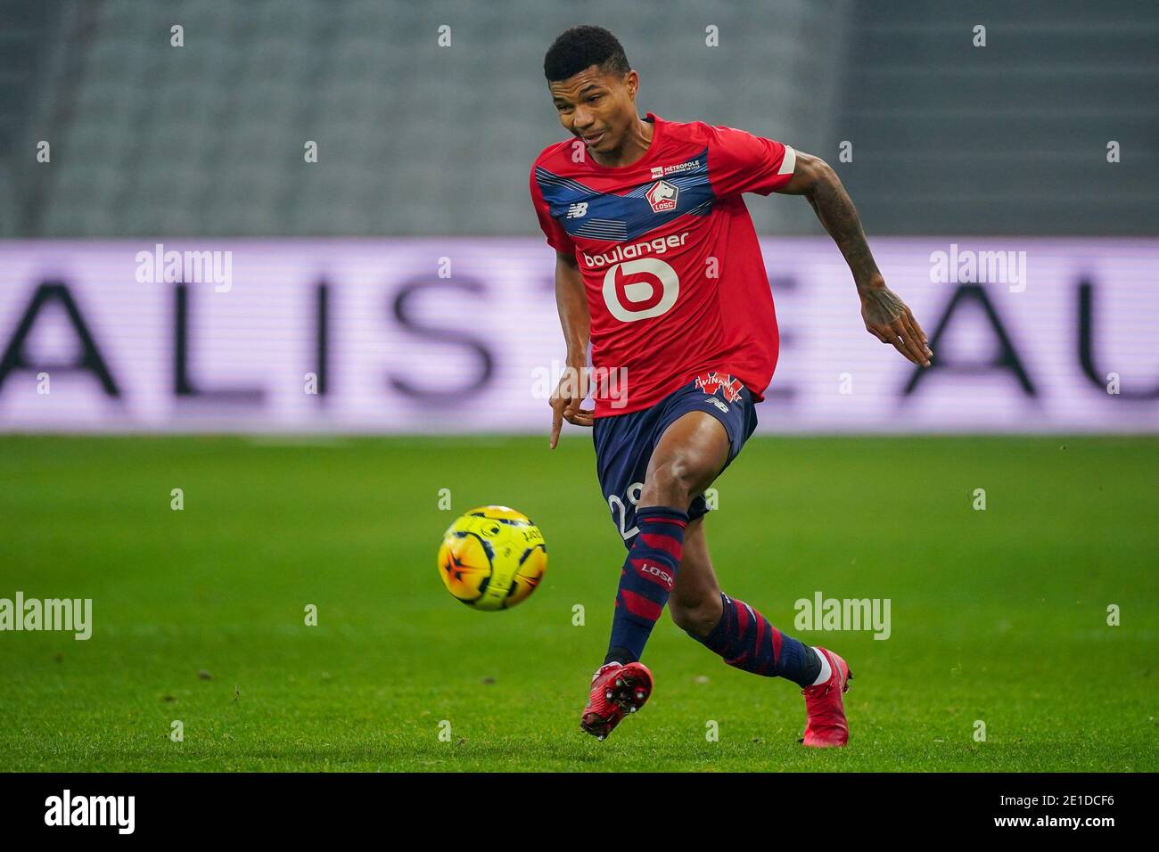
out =
[[554,450],[563,421],[573,425],[592,424],[591,412],[580,408],[588,396],[588,341],[591,337],[591,314],[583,291],[583,276],[575,255],[557,252],[555,256],[555,307],[567,342],[567,367],[552,394],[552,443]]

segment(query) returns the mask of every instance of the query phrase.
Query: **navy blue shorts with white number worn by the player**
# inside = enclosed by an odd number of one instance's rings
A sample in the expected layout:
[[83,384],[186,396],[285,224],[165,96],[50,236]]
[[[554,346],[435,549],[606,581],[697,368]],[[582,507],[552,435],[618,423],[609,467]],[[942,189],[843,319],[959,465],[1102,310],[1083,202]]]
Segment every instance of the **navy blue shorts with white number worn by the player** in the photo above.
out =
[[[729,454],[724,467],[741,452],[757,428],[752,394],[738,379],[726,373],[706,373],[673,391],[651,408],[630,414],[597,417],[592,428],[596,443],[596,471],[612,511],[612,523],[632,547],[636,530],[636,503],[653,450],[664,430],[688,412],[707,412],[728,432]],[[702,494],[688,507],[688,519],[708,514]]]

